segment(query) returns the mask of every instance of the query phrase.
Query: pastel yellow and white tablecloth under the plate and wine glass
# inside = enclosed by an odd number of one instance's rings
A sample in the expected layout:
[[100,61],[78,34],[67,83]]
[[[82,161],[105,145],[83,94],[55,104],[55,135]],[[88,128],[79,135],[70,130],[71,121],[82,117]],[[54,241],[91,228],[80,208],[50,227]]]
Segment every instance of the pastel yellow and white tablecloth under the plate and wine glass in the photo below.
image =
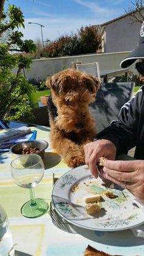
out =
[[[36,126],[31,127],[31,130],[37,130],[37,139],[49,142],[49,127]],[[0,203],[9,218],[16,255],[82,256],[88,244],[112,255],[144,255],[144,240],[135,238],[131,230],[96,232],[76,227],[75,233],[68,233],[52,223],[49,211],[39,218],[24,218],[21,206],[29,200],[29,190],[13,182],[10,174],[10,162],[13,159],[14,156],[9,152],[0,154]],[[52,175],[59,178],[71,168],[52,150],[51,142],[43,161],[45,175],[35,186],[35,197],[50,203]]]

